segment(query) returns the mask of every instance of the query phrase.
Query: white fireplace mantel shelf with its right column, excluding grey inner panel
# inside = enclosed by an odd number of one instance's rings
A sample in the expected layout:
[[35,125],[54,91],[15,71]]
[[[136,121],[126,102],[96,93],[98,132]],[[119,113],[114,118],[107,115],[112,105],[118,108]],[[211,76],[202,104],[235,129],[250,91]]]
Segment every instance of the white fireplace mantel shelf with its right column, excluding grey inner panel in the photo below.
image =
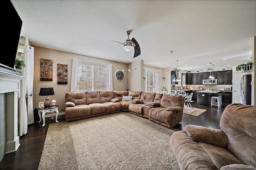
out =
[[14,152],[20,146],[18,136],[18,83],[25,77],[0,71],[0,93],[7,95],[6,111],[6,154]]

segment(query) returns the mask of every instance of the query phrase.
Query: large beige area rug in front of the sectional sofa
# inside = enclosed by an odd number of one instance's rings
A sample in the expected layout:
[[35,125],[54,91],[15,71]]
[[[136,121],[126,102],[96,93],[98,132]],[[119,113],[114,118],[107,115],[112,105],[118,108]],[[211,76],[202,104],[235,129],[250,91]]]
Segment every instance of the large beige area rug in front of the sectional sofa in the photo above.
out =
[[130,113],[49,125],[39,170],[179,170],[176,130]]

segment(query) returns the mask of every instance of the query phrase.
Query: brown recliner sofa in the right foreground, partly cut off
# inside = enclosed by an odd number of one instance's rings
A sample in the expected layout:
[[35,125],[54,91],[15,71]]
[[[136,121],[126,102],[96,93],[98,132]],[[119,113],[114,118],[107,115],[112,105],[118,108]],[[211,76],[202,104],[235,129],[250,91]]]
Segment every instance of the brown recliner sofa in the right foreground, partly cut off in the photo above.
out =
[[256,169],[256,106],[230,104],[220,129],[186,125],[170,147],[181,170]]

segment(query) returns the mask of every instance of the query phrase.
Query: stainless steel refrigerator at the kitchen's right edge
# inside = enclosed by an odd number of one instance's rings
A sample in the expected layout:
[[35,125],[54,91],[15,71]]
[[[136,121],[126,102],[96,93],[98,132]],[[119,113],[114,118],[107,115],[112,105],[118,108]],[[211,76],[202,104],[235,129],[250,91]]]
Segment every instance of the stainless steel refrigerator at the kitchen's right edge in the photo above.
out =
[[252,75],[243,75],[241,79],[241,104],[252,105]]

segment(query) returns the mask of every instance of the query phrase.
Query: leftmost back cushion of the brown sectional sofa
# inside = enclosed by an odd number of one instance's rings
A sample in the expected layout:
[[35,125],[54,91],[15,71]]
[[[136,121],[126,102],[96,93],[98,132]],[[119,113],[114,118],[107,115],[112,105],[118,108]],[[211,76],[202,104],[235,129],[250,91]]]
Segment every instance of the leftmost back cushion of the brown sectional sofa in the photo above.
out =
[[85,105],[86,95],[85,92],[68,92],[65,94],[65,102],[71,101],[75,105]]

